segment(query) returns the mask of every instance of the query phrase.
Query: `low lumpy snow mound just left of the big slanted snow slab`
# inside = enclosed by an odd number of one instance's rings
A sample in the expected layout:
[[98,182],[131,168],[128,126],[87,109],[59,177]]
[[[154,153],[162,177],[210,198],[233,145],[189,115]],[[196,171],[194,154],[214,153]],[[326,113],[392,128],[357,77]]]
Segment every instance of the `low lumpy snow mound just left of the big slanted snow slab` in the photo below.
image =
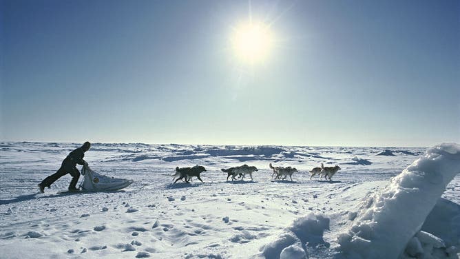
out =
[[260,249],[266,259],[308,258],[307,247],[329,247],[323,234],[329,229],[329,218],[308,214],[297,218],[278,238]]

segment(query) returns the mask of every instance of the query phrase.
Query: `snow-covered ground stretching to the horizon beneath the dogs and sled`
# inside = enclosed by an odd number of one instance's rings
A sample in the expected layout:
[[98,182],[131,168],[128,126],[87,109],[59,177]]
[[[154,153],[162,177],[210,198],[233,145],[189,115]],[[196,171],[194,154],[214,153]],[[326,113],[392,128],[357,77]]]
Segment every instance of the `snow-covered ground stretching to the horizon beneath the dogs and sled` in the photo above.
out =
[[[85,154],[92,169],[132,185],[59,194],[67,175],[39,194],[36,185],[80,145],[0,143],[0,258],[459,256],[458,145],[94,143]],[[258,167],[254,180],[227,182],[220,168],[243,163]],[[269,163],[299,172],[271,180]],[[309,180],[320,163],[342,169],[332,182]],[[171,183],[176,166],[193,165],[206,167],[205,183]]]

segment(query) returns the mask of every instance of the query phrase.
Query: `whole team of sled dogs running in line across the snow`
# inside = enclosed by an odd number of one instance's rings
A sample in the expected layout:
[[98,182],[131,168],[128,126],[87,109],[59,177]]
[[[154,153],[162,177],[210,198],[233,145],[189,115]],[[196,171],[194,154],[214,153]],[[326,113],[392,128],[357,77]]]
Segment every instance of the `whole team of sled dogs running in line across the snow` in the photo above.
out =
[[[292,181],[292,174],[295,172],[298,172],[295,167],[273,167],[271,163],[269,164],[269,167],[273,169],[273,174],[271,174],[271,178],[273,179],[273,176],[275,176],[275,179],[281,179],[281,180],[286,180],[286,178],[289,176]],[[252,173],[257,172],[258,169],[254,166],[249,166],[249,165],[240,165],[238,167],[230,167],[228,169],[221,169],[222,172],[227,173],[227,180],[229,180],[229,177],[231,176],[231,180],[235,180],[237,177],[240,178],[241,180],[244,179],[244,176],[249,174],[249,177],[252,178]],[[311,169],[310,172],[310,180],[313,176],[319,174],[320,179],[324,176],[326,180],[331,181],[332,176],[336,174],[340,170],[340,167],[338,165],[335,165],[334,167],[324,167],[323,163],[321,163],[321,167],[315,167]],[[176,174],[173,174],[173,180],[174,183],[177,183],[178,180],[185,180],[186,183],[189,183],[192,177],[198,178],[201,182],[200,174],[202,172],[206,172],[205,167],[202,167],[201,165],[195,165],[194,167],[176,167]]]

